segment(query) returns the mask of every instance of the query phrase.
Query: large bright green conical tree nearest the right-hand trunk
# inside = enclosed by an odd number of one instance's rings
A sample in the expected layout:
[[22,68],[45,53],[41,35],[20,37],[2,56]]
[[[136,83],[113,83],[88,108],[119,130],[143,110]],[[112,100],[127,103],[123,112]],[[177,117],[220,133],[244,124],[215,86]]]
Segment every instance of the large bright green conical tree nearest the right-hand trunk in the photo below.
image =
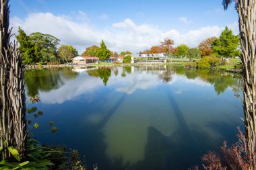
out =
[[220,38],[212,42],[212,48],[214,53],[217,56],[223,57],[234,57],[239,56],[240,51],[238,50],[239,46],[239,36],[234,36],[232,30],[229,30],[228,27],[222,31]]

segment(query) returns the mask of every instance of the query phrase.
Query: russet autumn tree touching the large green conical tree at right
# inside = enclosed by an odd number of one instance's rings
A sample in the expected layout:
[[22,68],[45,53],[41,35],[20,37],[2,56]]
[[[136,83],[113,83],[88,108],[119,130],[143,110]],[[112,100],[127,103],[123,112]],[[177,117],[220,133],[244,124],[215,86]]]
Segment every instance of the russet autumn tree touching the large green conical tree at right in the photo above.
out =
[[214,53],[214,49],[212,49],[212,42],[214,42],[216,39],[216,37],[212,36],[203,40],[199,44],[198,48],[201,51],[201,56],[210,56],[212,53]]

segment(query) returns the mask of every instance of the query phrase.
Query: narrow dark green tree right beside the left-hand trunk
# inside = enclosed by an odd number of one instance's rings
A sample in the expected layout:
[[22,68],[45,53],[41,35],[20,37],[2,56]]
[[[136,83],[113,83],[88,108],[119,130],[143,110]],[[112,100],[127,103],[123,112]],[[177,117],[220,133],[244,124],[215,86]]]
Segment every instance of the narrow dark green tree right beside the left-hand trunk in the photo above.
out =
[[31,64],[32,62],[38,62],[36,55],[35,55],[35,49],[34,45],[30,41],[29,36],[26,35],[24,30],[19,27],[18,30],[19,34],[16,36],[16,39],[18,40],[20,46],[20,54],[22,56],[22,61],[24,64]]

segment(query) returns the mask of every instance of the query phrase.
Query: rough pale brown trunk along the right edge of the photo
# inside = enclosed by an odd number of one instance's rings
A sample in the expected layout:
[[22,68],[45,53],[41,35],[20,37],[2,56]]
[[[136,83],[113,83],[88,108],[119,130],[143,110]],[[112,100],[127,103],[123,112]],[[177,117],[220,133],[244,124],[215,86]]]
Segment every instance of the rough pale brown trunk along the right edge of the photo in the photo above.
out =
[[[224,9],[233,0],[223,0]],[[256,2],[236,0],[235,9],[238,12],[241,60],[243,65],[245,132],[247,139],[246,151],[251,167],[256,169]]]

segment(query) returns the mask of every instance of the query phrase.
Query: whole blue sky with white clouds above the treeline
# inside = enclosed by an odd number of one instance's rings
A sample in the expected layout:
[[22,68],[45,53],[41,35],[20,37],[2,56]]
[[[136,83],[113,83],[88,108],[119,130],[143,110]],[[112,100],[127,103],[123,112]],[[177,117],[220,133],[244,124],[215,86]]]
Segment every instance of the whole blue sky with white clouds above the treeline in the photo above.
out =
[[81,53],[103,39],[110,50],[139,52],[164,38],[195,47],[225,26],[238,34],[234,4],[222,0],[10,0],[11,26],[52,34]]

